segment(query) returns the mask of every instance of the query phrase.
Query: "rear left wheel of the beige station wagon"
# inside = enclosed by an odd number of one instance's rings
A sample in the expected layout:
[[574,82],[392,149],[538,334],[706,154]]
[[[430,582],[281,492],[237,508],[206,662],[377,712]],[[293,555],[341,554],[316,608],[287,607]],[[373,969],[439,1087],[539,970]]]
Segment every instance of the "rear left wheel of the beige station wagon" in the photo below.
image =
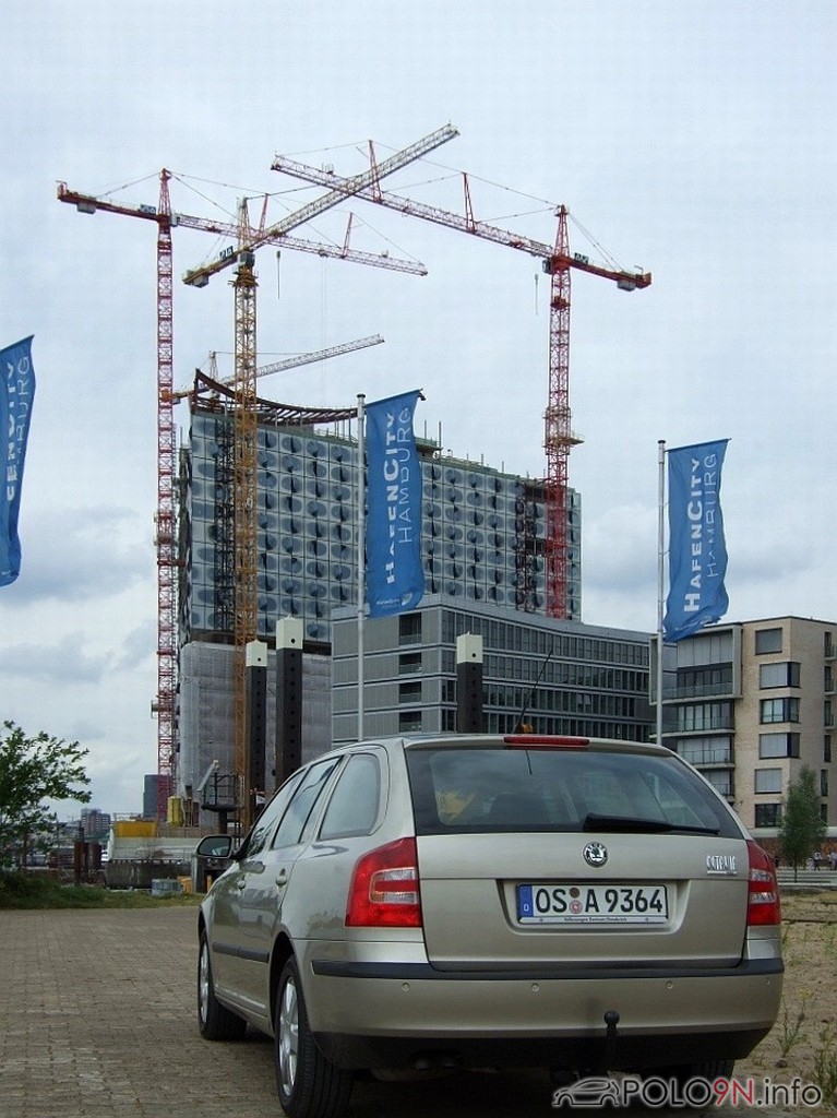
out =
[[349,1105],[354,1077],[317,1048],[293,958],[279,977],[274,1033],[276,1086],[285,1114],[289,1118],[340,1118]]

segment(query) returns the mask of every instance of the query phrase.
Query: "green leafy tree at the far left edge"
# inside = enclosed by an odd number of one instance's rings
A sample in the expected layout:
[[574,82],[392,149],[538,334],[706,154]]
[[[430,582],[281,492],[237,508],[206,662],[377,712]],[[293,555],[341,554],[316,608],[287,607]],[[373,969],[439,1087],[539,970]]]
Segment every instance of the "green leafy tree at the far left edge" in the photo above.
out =
[[91,783],[84,769],[87,750],[77,741],[51,738],[42,730],[27,738],[19,726],[3,722],[0,732],[0,865],[47,832],[51,814],[46,800],[86,804]]

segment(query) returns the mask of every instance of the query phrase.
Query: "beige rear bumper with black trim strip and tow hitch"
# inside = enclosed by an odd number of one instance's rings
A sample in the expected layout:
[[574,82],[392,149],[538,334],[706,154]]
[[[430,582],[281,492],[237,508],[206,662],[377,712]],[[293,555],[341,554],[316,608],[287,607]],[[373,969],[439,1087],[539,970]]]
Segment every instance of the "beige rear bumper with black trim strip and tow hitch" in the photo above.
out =
[[[776,1021],[781,987],[777,959],[572,977],[315,960],[305,994],[317,1043],[341,1067],[632,1070],[748,1055]],[[610,1036],[609,1011],[619,1015]]]

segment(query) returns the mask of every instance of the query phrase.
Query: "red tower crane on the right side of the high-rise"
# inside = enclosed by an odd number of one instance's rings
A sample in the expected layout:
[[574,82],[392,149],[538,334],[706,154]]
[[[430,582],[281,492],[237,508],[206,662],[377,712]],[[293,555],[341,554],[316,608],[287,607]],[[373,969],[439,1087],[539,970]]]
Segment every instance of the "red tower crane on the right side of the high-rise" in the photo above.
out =
[[[333,191],[350,187],[354,179],[342,179],[331,170],[320,170],[304,163],[277,155],[272,170],[316,186],[329,186]],[[521,236],[508,229],[477,221],[470,200],[467,176],[464,176],[465,214],[451,214],[380,190],[380,188],[352,189],[352,195],[364,201],[374,202],[398,210],[410,217],[422,218],[436,225],[457,229],[485,240],[492,240],[507,248],[529,253],[542,260],[543,271],[551,276],[550,293],[550,352],[549,395],[544,414],[544,449],[546,452],[546,613],[550,617],[569,617],[568,607],[568,542],[567,542],[567,496],[568,464],[571,447],[579,442],[570,425],[570,272],[576,269],[589,275],[612,280],[620,291],[636,291],[647,287],[650,273],[626,272],[592,263],[580,253],[570,255],[567,228],[568,209],[558,209],[558,233],[554,246]]]

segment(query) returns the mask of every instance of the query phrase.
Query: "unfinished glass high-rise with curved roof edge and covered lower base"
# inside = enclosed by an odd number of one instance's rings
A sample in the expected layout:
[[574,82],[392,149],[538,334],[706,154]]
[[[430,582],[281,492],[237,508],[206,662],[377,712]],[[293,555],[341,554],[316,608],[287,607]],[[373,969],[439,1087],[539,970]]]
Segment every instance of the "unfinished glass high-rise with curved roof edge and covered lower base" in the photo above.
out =
[[[190,398],[179,484],[177,768],[179,792],[188,799],[212,762],[212,781],[234,770],[234,418],[230,389],[201,378]],[[544,617],[543,482],[445,455],[428,438],[417,443],[426,594],[451,605]],[[358,442],[345,411],[259,399],[256,447],[257,634],[272,647],[280,618],[303,624],[303,751],[312,756],[332,740],[332,614],[356,607]],[[568,606],[578,622],[577,493],[570,491],[567,508]],[[268,727],[268,752],[272,732]],[[212,781],[199,798],[206,799]]]

